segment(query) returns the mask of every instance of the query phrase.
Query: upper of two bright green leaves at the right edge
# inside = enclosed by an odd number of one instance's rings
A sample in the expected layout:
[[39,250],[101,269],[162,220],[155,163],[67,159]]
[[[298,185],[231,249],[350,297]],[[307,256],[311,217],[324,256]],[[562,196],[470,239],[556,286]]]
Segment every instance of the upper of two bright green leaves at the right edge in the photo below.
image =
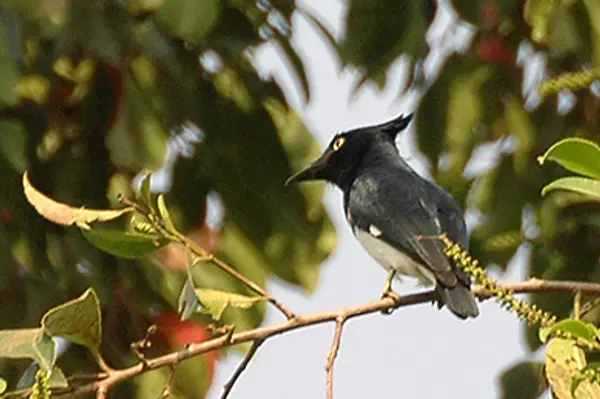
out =
[[573,173],[600,180],[600,146],[593,141],[579,137],[561,140],[538,157],[540,165],[547,160]]

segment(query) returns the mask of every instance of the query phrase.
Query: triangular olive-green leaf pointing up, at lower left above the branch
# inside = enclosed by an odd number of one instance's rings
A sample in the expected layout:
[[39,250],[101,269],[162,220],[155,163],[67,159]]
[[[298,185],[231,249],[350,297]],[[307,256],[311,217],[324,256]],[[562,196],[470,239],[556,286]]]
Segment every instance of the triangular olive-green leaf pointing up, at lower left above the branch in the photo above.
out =
[[96,292],[89,288],[79,298],[50,309],[42,318],[42,328],[51,336],[98,349],[102,341],[102,316]]

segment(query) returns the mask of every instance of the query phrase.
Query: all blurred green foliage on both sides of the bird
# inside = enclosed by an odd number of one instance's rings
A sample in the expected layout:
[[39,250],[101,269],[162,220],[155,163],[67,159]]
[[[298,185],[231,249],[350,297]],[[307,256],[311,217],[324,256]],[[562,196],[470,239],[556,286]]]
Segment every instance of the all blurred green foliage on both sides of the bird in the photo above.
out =
[[[591,143],[599,140],[600,101],[597,90],[588,89],[600,68],[600,3],[452,4],[474,36],[464,51],[452,53],[439,71],[427,74],[420,61],[437,55],[442,46],[425,40],[438,11],[432,0],[348,0],[339,43],[291,0],[3,2],[2,327],[31,329],[48,307],[92,286],[105,315],[102,353],[110,364],[124,365],[137,361],[127,348],[151,322],[150,309],[178,304],[184,315],[210,323],[209,316],[195,312],[202,302],[197,290],[255,298],[239,280],[208,262],[188,270],[197,259],[190,259],[182,245],[166,245],[176,237],[163,235],[147,215],[126,207],[116,220],[104,221],[117,215],[95,213],[115,208],[117,193],[131,197],[132,187],[139,188],[138,202],[153,209],[167,231],[179,226],[195,245],[217,253],[259,286],[277,277],[307,291],[315,288],[318,265],[335,246],[319,201],[322,189],[286,189],[282,182],[314,157],[318,146],[287,105],[278,82],[259,77],[252,64],[258,48],[274,46],[310,101],[304,60],[289,40],[294,14],[308,18],[344,66],[359,68],[357,88],[371,81],[385,86],[389,67],[408,56],[409,87],[420,95],[419,148],[433,178],[480,216],[469,247],[474,258],[506,270],[525,247],[529,276],[594,280],[600,273],[600,208],[598,175],[592,174],[599,173],[597,146]],[[540,94],[546,76],[551,79]],[[565,137],[570,139],[551,147]],[[537,158],[548,148],[543,161],[557,161],[583,176],[566,176],[554,164],[540,167]],[[481,154],[488,166],[465,173]],[[155,171],[152,181],[143,179],[143,169]],[[20,194],[25,170],[40,195],[33,199],[37,210],[46,208],[39,198],[51,198],[51,208],[57,203],[67,208],[59,212],[60,219],[50,219],[76,228],[57,228],[26,203]],[[161,200],[150,196],[167,191]],[[215,203],[225,210],[222,224],[207,218]],[[86,208],[76,208],[82,205]],[[124,224],[127,216],[132,217]],[[140,258],[145,253],[152,255]],[[123,258],[127,255],[131,259]],[[222,322],[235,322],[240,329],[260,324],[264,306],[239,309],[233,304],[247,302],[238,299],[217,300],[217,310],[227,308]],[[568,296],[539,293],[531,300],[560,319],[573,310]],[[600,312],[589,307],[583,316],[587,324],[571,327],[589,332],[600,322]],[[18,315],[12,311],[16,308],[22,309]],[[527,342],[536,349],[538,331],[526,328]],[[53,341],[41,331],[27,333],[16,353],[46,367],[54,360],[49,363],[39,353],[46,353]],[[570,361],[575,341],[557,339],[564,337],[551,338],[547,350],[567,353],[562,358]],[[78,350],[69,349],[61,358],[66,372],[95,367],[93,356],[85,358]],[[553,387],[569,379],[569,393],[578,392],[571,389],[575,374],[594,375],[593,362],[579,370],[561,364],[551,368],[548,379]],[[1,365],[0,375],[8,381],[25,367]],[[536,378],[536,373],[523,373],[523,367],[502,377],[507,391],[514,389],[511,381],[520,381],[511,373]],[[150,381],[124,385],[119,394],[145,397],[148,387],[157,385]]]

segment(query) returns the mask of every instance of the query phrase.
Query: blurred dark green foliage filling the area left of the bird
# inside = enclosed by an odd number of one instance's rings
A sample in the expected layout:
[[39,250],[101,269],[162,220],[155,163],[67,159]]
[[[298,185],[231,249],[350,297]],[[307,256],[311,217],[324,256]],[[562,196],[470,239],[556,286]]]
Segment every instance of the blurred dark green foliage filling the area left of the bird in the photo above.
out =
[[[100,349],[106,362],[138,361],[129,344],[143,336],[157,313],[177,307],[188,281],[181,245],[154,239],[139,214],[131,225],[138,230],[124,229],[131,209],[102,213],[116,207],[117,194],[131,196],[139,188],[145,169],[156,172],[152,181],[145,180],[146,199],[159,212],[165,198],[157,208],[149,193],[168,192],[170,219],[162,219],[181,226],[195,245],[230,261],[259,286],[275,278],[314,290],[336,238],[320,203],[323,188],[283,186],[319,148],[279,83],[253,67],[261,46],[276,46],[296,68],[309,99],[303,64],[289,41],[295,5],[265,4],[2,2],[3,329],[31,328],[49,307],[91,286],[102,304]],[[25,170],[30,180],[24,197]],[[215,211],[223,217],[212,217]],[[237,279],[209,264],[194,267],[190,275],[199,290],[250,295]],[[222,323],[235,321],[242,330],[260,325],[264,304],[240,310],[239,302],[228,303],[231,310]],[[190,322],[213,321],[196,313]],[[39,331],[21,348],[28,357],[40,345],[52,345]],[[63,332],[74,342],[100,342],[97,336]],[[71,346],[61,367],[67,375],[93,372],[94,356]],[[9,390],[26,367],[0,360]],[[116,394],[151,396],[149,387],[161,389],[166,377],[144,377]],[[187,384],[175,379],[178,391],[191,397],[202,397],[210,385],[209,379],[200,385],[197,378]],[[33,378],[28,381],[31,385]]]

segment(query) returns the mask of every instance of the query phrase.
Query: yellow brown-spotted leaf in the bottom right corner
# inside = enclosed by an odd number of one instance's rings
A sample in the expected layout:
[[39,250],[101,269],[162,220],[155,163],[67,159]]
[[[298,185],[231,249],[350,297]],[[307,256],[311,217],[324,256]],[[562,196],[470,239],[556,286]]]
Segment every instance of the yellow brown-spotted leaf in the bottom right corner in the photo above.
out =
[[572,340],[554,338],[548,344],[545,360],[546,376],[558,399],[598,398],[600,385],[582,381],[571,395],[573,380],[587,365],[585,353]]

